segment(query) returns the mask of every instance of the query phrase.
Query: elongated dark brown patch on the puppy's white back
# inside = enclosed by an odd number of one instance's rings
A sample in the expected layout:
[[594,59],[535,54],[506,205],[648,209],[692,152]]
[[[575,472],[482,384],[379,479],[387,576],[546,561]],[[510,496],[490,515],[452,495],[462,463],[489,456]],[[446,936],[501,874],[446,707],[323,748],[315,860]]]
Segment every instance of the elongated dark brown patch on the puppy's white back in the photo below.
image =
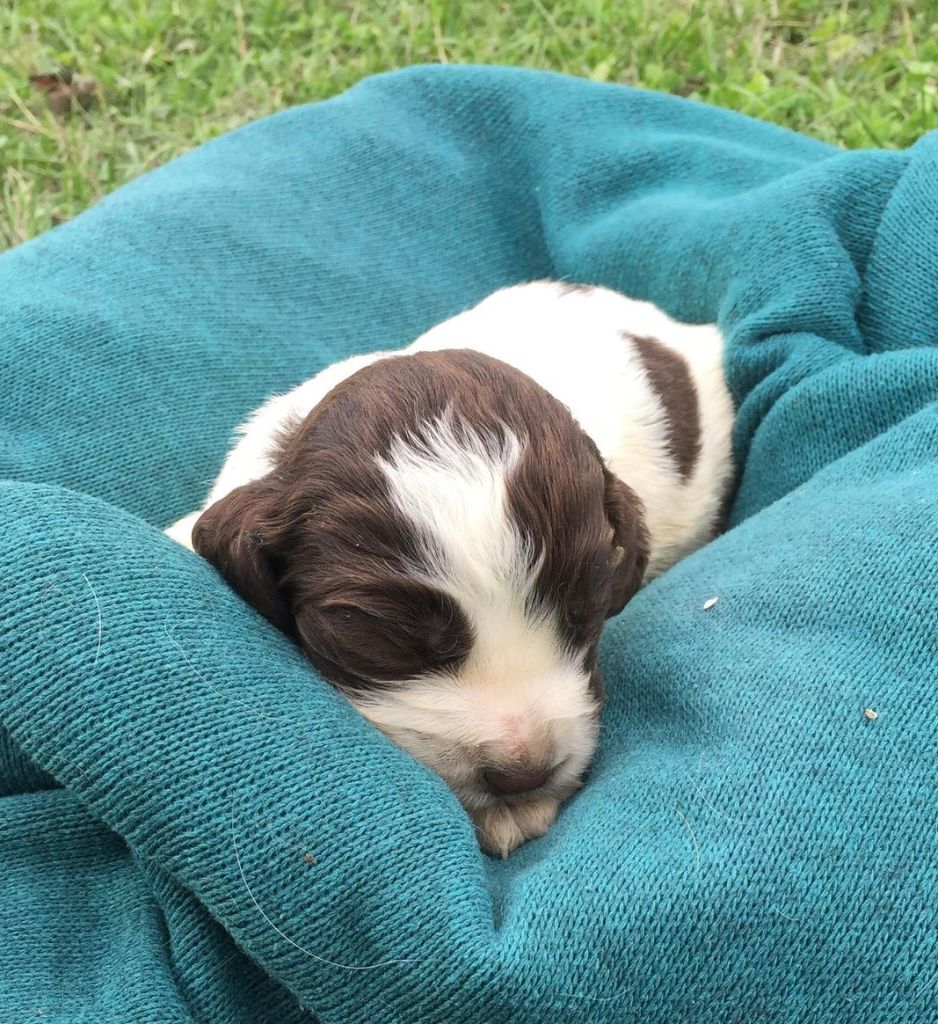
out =
[[668,418],[668,451],[686,480],[700,457],[700,407],[687,361],[654,338],[625,334],[638,352]]

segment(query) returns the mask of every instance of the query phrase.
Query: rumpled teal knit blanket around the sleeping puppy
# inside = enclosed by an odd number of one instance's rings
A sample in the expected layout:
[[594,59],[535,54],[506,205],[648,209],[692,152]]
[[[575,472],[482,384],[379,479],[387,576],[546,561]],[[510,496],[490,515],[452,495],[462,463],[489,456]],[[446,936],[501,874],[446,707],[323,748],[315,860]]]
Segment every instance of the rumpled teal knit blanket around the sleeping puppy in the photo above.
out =
[[[740,477],[496,862],[159,527],[271,391],[543,276],[720,323]],[[0,1020],[934,1024],[938,134],[381,76],[5,254],[0,375]]]

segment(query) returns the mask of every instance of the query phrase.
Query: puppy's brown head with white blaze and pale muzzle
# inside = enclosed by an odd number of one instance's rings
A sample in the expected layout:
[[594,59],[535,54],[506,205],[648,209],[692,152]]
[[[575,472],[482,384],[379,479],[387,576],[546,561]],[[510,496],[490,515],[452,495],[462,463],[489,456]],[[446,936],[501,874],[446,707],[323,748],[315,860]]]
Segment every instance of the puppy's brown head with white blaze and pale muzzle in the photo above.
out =
[[470,810],[563,800],[596,744],[637,497],[567,410],[476,352],[393,356],[288,425],[196,550]]

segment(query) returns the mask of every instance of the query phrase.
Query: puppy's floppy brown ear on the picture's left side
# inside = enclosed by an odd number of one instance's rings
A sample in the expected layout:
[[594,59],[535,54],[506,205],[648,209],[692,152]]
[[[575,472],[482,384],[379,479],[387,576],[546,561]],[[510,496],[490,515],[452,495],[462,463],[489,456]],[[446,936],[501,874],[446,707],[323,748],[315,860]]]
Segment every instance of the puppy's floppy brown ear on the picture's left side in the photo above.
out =
[[293,615],[280,590],[278,541],[283,496],[266,479],[236,487],[209,506],[193,527],[193,547],[248,604],[292,636]]

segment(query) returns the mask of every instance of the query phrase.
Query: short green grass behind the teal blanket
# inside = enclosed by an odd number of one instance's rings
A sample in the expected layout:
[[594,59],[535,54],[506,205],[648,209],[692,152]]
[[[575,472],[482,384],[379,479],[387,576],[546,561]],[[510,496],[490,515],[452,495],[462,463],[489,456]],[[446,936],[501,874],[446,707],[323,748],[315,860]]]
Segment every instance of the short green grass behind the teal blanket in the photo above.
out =
[[[938,125],[938,0],[0,0],[0,248],[220,132],[421,61],[694,96],[844,146]],[[56,119],[29,77],[102,101]]]

